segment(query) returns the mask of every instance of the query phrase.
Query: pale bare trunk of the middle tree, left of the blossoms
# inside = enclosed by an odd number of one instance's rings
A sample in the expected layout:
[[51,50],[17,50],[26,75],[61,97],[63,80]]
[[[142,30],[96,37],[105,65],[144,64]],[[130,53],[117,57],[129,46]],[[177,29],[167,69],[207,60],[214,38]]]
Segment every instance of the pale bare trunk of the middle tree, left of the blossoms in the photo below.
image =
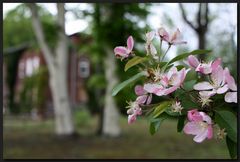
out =
[[104,119],[103,119],[103,135],[119,136],[119,111],[116,107],[114,98],[111,95],[113,87],[117,84],[117,77],[115,75],[116,60],[112,50],[107,49],[107,57],[104,61],[105,77],[107,80],[107,89],[105,95]]

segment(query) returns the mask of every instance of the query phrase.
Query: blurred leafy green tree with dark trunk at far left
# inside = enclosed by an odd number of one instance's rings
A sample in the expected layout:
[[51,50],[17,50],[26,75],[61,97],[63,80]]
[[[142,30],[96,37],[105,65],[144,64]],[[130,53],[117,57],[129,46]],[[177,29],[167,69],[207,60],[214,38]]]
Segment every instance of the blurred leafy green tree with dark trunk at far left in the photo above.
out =
[[[51,25],[53,16],[42,7],[38,7],[38,9],[44,24],[44,32],[49,33],[47,34],[48,40],[52,40],[52,33],[55,31],[54,26]],[[7,73],[11,74],[6,77],[9,89],[8,107],[11,113],[20,112],[18,105],[14,103],[18,60],[25,48],[30,46],[36,48],[33,30],[28,26],[31,26],[31,19],[25,4],[20,4],[10,10],[3,19],[3,49],[5,54],[3,61],[6,63]]]

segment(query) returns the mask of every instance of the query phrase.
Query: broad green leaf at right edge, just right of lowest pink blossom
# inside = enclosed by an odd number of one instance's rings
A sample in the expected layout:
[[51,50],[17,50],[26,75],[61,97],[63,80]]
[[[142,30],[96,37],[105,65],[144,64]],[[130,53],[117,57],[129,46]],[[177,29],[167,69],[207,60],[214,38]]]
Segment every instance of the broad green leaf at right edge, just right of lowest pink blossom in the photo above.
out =
[[237,117],[230,111],[215,111],[215,121],[221,129],[225,128],[228,137],[237,143]]

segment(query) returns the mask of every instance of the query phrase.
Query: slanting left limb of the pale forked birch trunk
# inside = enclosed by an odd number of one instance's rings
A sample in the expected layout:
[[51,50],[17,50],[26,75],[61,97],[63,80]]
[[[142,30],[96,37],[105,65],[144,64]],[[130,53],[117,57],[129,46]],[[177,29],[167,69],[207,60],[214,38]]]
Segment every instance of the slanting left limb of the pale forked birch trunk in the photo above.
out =
[[40,18],[38,15],[37,5],[35,3],[26,3],[26,4],[31,11],[33,30],[35,32],[39,46],[42,49],[47,65],[49,67],[53,66],[53,53],[51,52],[51,49],[49,48],[49,46],[45,41],[45,35],[43,33],[42,24],[40,22]]

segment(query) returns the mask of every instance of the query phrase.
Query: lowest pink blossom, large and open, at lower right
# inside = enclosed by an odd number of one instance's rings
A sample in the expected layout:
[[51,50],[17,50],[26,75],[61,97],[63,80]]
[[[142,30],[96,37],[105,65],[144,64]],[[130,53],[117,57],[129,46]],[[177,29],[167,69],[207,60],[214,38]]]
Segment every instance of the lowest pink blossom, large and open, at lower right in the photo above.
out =
[[193,140],[201,143],[203,140],[213,137],[213,127],[211,118],[204,112],[198,112],[196,109],[188,111],[189,122],[184,126],[183,131],[186,134],[195,135]]

